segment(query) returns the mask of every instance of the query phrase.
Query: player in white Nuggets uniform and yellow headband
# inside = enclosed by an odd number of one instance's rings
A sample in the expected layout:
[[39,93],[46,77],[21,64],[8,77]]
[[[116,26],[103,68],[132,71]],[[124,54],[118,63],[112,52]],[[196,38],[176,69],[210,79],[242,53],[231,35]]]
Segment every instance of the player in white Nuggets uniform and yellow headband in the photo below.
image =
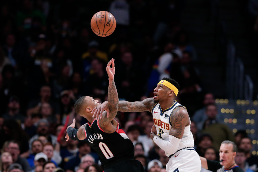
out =
[[[171,78],[163,78],[154,89],[154,97],[141,102],[119,101],[118,111],[143,112],[153,114],[154,126],[150,138],[169,157],[167,172],[200,172],[201,161],[196,153],[190,118],[184,106],[175,98],[179,84]],[[93,109],[93,117],[107,110],[107,102]],[[100,116],[101,117],[101,116]]]

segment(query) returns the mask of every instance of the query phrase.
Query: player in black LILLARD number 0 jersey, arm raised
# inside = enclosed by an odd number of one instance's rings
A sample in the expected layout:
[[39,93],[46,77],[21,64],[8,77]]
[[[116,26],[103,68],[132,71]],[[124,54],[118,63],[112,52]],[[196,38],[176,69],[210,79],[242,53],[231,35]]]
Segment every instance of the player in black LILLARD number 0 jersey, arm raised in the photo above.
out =
[[[110,67],[112,64],[112,68]],[[78,130],[75,127],[75,119],[67,128],[67,141],[84,140],[97,152],[100,162],[104,165],[104,172],[143,172],[140,161],[133,159],[134,145],[129,140],[121,126],[114,117],[118,111],[118,93],[114,82],[115,74],[114,59],[108,62],[106,71],[109,77],[107,104],[110,112],[103,112],[101,119],[92,117],[91,111],[100,105],[99,101],[92,97],[80,97],[74,105],[75,112],[86,118],[89,122],[82,125]]]

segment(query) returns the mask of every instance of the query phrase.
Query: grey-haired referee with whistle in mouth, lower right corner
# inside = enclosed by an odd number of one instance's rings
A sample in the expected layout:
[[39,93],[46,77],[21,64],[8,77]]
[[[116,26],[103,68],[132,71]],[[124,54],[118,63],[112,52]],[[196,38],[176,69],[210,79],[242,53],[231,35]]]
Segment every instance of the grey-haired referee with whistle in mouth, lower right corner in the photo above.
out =
[[225,140],[220,145],[220,161],[210,161],[200,157],[202,167],[213,172],[244,172],[236,165],[234,157],[236,156],[237,147],[232,141]]

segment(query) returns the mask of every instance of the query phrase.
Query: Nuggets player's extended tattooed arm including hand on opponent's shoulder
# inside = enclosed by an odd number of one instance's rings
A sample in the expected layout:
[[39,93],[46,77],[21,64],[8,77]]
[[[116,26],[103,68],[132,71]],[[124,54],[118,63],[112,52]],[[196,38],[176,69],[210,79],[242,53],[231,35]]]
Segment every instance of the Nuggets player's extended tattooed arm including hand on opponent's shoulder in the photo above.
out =
[[[144,112],[149,111],[151,112],[153,106],[155,105],[153,98],[146,98],[141,102],[128,102],[125,100],[118,102],[118,111],[120,112]],[[108,102],[103,102],[101,105],[95,107],[92,110],[93,118],[102,118],[102,112],[107,112],[107,117],[109,117],[109,106]]]

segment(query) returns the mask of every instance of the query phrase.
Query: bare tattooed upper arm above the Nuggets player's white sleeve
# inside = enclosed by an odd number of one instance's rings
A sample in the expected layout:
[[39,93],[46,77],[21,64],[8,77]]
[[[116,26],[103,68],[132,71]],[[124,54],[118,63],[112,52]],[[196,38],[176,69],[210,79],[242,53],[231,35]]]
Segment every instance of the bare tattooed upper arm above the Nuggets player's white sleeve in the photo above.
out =
[[189,122],[188,112],[183,107],[177,107],[170,116],[172,127],[169,135],[182,139],[186,124]]

